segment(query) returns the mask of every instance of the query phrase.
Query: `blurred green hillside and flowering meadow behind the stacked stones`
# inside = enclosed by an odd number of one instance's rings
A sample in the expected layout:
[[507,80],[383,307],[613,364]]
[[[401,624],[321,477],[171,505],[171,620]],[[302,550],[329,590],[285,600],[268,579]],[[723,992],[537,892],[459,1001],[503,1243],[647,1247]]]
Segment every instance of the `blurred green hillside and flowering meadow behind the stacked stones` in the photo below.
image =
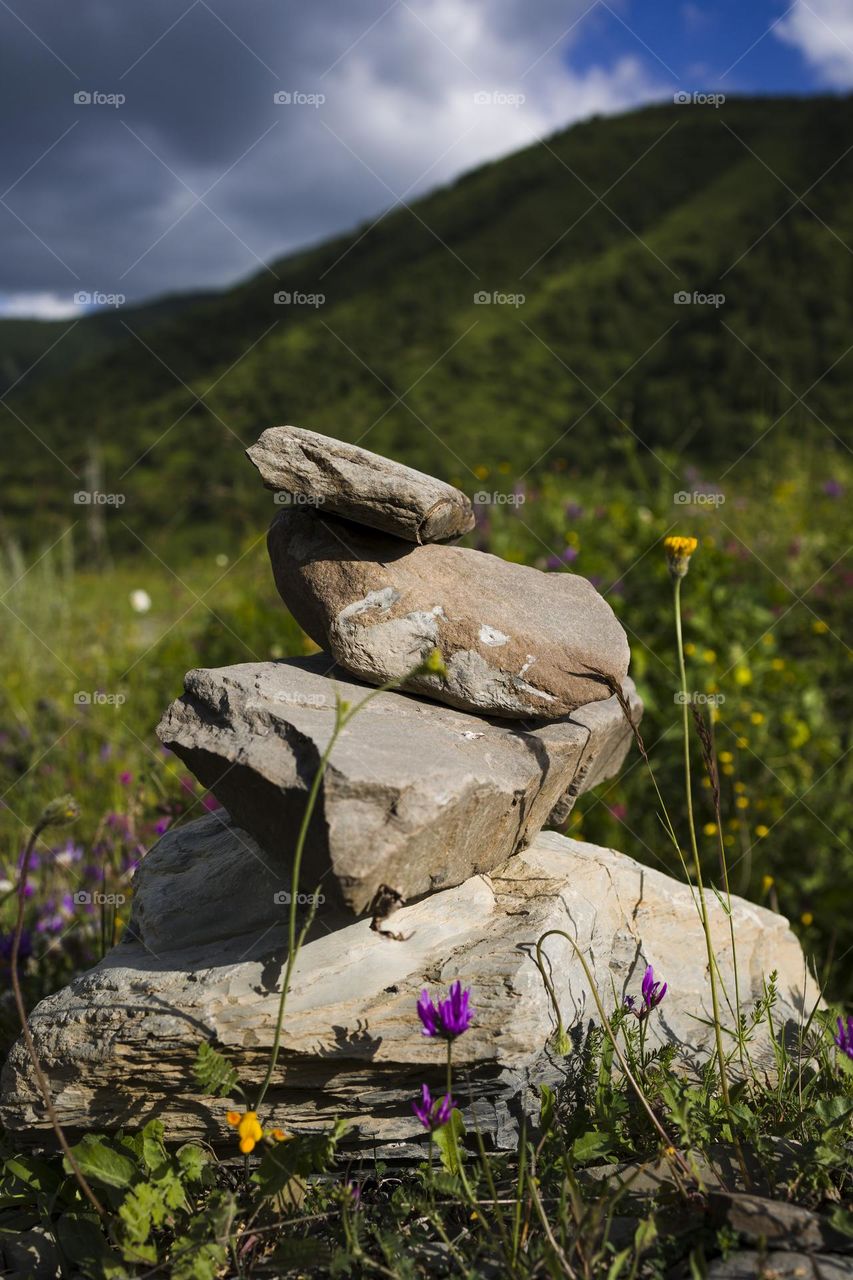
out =
[[[225,293],[0,323],[0,965],[28,829],[59,792],[83,810],[38,849],[31,998],[127,918],[73,895],[127,897],[158,833],[213,803],[154,736],[183,672],[310,646],[242,456],[275,422],[485,494],[470,545],[596,582],[683,838],[660,544],[694,534],[689,681],[721,699],[733,887],[853,993],[852,128],[836,99],[593,119]],[[93,489],[119,500],[74,502]],[[697,790],[702,827],[698,767]],[[637,754],[567,829],[679,873]]]

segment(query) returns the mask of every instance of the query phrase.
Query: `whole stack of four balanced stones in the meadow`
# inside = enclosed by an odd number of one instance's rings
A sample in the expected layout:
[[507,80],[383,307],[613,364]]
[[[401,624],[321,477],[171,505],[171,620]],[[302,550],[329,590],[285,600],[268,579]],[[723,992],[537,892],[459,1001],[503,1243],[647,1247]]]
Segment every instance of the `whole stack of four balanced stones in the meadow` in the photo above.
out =
[[[309,828],[300,887],[320,905],[265,1119],[309,1132],[341,1115],[355,1148],[411,1153],[423,1132],[409,1100],[424,1080],[441,1087],[443,1066],[415,1001],[459,978],[476,1009],[456,1052],[464,1110],[494,1146],[511,1144],[538,1084],[565,1071],[533,959],[551,929],[575,938],[607,1001],[634,991],[649,963],[669,977],[651,1036],[699,1062],[710,1002],[689,887],[543,832],[617,773],[642,713],[607,603],[575,575],[452,545],[471,507],[430,476],[288,426],[248,453],[279,497],[275,582],[323,652],[191,671],[165,713],[161,740],[224,808],[160,840],[137,872],[120,945],[33,1011],[61,1123],[104,1130],[156,1114],[175,1140],[231,1143],[224,1106],[195,1091],[195,1052],[206,1038],[243,1082],[263,1078],[296,832],[337,701],[355,705],[371,685],[394,689],[347,723]],[[434,650],[442,673],[425,664]],[[733,906],[742,1000],[772,968],[776,1012],[795,1018],[811,991],[786,922]],[[711,928],[730,982],[716,900]],[[560,936],[543,954],[578,1043],[596,1018],[583,970]],[[22,1143],[49,1140],[22,1044],[0,1120]]]

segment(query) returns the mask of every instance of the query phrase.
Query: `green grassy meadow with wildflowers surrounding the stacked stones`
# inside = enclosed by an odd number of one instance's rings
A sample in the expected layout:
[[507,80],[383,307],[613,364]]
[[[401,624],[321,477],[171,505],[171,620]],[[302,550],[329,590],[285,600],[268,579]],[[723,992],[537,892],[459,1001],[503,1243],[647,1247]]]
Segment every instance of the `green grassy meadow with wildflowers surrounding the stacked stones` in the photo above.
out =
[[[825,488],[838,474],[818,467],[820,460],[792,468],[783,483],[753,472],[748,489],[726,490],[725,503],[690,506],[674,506],[663,486],[646,488],[639,500],[639,484],[557,467],[519,490],[523,502],[484,508],[474,540],[508,559],[570,564],[598,582],[629,630],[647,704],[643,736],[679,851],[639,754],[619,780],[581,799],[569,832],[678,876],[693,832],[706,892],[725,896],[727,879],[733,892],[784,909],[830,995],[849,1000],[849,650],[840,636],[850,515],[834,485]],[[507,484],[500,463],[482,470],[483,489]],[[694,488],[702,490],[701,477]],[[669,532],[698,539],[680,649],[661,552]],[[120,933],[127,901],[118,899],[129,897],[129,870],[156,831],[210,803],[152,736],[183,671],[306,648],[275,599],[257,539],[227,563],[213,549],[169,568],[169,548],[152,535],[133,562],[93,573],[74,566],[72,536],[32,566],[8,553],[0,588],[14,611],[4,628],[12,678],[0,708],[10,886],[45,806],[70,791],[82,810],[73,827],[46,829],[35,845],[31,954],[22,966],[29,1006]],[[152,602],[145,613],[129,603],[140,589]],[[689,788],[681,733],[693,726],[683,687],[707,713],[706,741],[693,739]],[[91,700],[76,701],[79,692]],[[703,755],[719,769],[719,812]],[[69,905],[74,892],[92,901]],[[8,896],[6,964],[13,908]],[[87,1276],[199,1280],[701,1275],[743,1234],[730,1193],[744,1188],[818,1212],[835,1240],[853,1234],[853,1074],[833,1046],[829,1012],[807,1011],[790,1043],[774,1024],[767,974],[765,998],[743,1010],[725,1060],[695,1078],[680,1069],[675,1046],[648,1048],[648,1023],[596,998],[601,1027],[566,1059],[565,1085],[543,1089],[542,1123],[514,1153],[487,1156],[453,1120],[437,1130],[429,1160],[405,1175],[343,1166],[339,1129],[264,1143],[243,1165],[219,1165],[199,1144],[174,1151],[152,1121],[119,1138],[90,1134],[74,1148],[104,1221],[86,1210],[70,1166],[10,1153],[0,1231],[49,1222]],[[14,1009],[3,1009],[9,1039]],[[752,1071],[749,1053],[740,1053],[767,1028],[774,1078]],[[199,1070],[209,1094],[238,1097],[238,1061],[207,1051]]]

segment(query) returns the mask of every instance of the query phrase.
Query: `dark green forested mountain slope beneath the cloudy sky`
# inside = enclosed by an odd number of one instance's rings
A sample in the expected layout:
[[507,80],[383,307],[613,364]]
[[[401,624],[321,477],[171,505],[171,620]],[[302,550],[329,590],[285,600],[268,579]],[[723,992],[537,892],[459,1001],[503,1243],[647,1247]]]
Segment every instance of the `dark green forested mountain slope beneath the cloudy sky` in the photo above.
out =
[[257,493],[243,444],[286,421],[469,492],[496,465],[511,485],[552,466],[662,457],[719,476],[745,451],[744,466],[847,454],[852,134],[839,97],[597,118],[283,259],[277,279],[73,332],[8,321],[0,532],[63,527],[86,476],[137,529],[240,527]]

